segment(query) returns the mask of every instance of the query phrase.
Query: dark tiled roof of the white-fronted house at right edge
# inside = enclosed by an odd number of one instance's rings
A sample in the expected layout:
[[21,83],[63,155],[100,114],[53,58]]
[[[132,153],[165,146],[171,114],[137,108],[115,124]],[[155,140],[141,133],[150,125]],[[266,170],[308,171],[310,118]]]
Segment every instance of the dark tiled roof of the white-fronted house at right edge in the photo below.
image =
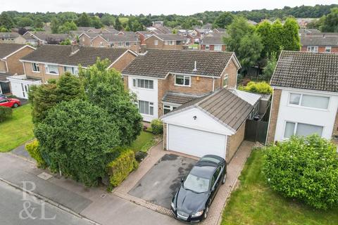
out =
[[338,55],[282,51],[270,84],[338,92]]

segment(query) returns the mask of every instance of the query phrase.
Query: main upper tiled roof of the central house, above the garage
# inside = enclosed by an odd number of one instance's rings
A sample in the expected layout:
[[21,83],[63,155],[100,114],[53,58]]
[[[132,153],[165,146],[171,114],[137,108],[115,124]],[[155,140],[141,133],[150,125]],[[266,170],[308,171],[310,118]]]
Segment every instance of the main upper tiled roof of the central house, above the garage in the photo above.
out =
[[232,56],[233,52],[226,51],[149,49],[144,56],[135,58],[123,74],[164,78],[168,72],[177,72],[220,77]]

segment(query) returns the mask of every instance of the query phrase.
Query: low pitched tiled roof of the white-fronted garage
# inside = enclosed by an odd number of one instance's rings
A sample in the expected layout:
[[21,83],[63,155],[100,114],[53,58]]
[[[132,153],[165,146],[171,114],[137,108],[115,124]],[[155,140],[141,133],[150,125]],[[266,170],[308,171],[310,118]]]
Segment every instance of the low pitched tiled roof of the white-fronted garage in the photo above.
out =
[[180,113],[189,108],[199,108],[219,122],[237,131],[253,110],[253,105],[244,101],[239,96],[232,94],[228,89],[215,91],[213,94],[190,101],[163,117]]

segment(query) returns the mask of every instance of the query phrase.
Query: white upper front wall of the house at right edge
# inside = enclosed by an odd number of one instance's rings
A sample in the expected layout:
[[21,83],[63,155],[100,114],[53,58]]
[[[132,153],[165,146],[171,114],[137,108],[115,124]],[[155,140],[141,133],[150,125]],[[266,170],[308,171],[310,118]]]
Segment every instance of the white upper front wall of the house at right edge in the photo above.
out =
[[[330,97],[329,106],[327,110],[322,110],[303,108],[298,105],[289,105],[290,93],[327,96]],[[337,95],[323,93],[322,91],[300,91],[283,89],[280,97],[280,109],[277,117],[275,141],[282,141],[284,139],[284,129],[287,121],[300,122],[304,124],[312,124],[324,127],[322,134],[323,138],[331,139],[334,120],[337,115],[337,108]]]

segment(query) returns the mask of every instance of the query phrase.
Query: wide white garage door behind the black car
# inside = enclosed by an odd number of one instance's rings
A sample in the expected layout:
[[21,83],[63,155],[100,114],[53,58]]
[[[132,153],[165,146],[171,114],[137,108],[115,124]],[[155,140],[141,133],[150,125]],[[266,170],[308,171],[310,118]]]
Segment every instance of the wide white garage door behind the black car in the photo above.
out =
[[187,155],[219,155],[225,158],[226,136],[168,124],[168,150]]

